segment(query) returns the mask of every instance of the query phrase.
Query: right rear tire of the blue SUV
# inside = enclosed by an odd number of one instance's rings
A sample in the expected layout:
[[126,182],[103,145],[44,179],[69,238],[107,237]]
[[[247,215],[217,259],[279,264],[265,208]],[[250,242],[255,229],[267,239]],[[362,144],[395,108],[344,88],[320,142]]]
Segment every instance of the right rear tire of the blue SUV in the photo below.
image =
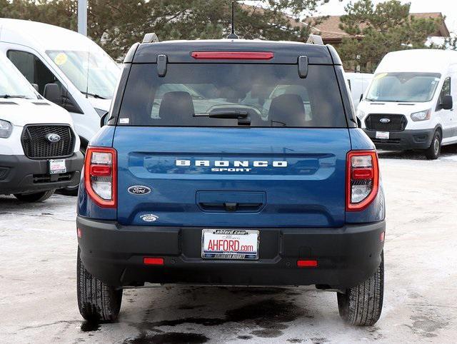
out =
[[368,280],[356,287],[337,293],[341,318],[350,325],[374,325],[381,316],[384,295],[384,254],[381,264]]

